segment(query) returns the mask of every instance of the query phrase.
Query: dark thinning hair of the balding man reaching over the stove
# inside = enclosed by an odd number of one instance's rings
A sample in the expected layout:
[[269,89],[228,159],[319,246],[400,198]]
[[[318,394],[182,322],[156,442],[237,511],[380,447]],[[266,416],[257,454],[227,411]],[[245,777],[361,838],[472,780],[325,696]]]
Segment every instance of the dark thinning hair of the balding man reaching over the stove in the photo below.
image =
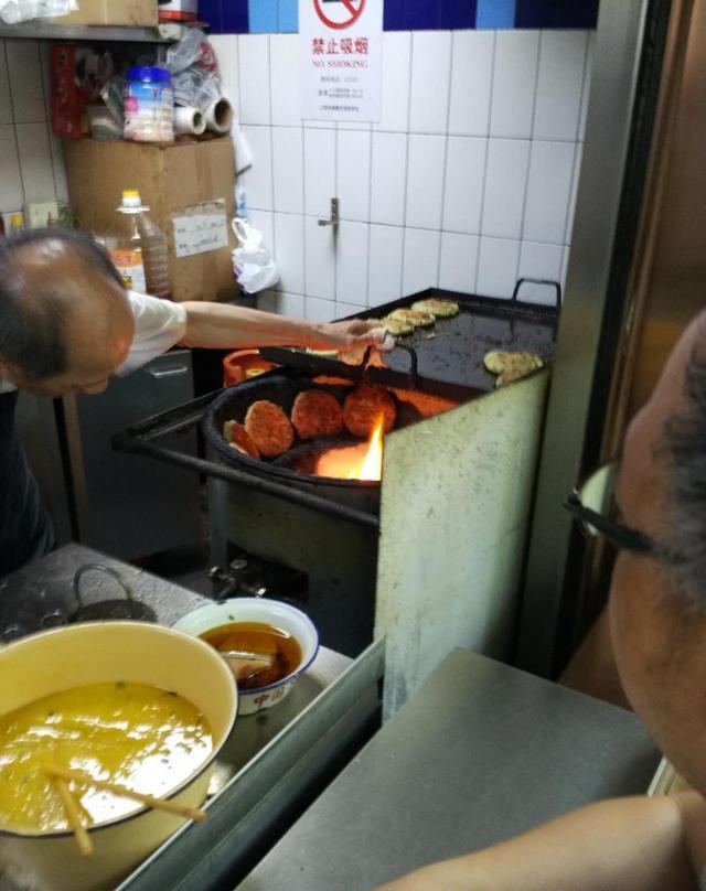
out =
[[29,291],[22,276],[22,250],[49,240],[63,243],[87,266],[122,287],[108,251],[87,233],[30,229],[0,239],[0,356],[32,380],[62,374],[67,366],[64,330],[71,302],[65,282],[47,277]]

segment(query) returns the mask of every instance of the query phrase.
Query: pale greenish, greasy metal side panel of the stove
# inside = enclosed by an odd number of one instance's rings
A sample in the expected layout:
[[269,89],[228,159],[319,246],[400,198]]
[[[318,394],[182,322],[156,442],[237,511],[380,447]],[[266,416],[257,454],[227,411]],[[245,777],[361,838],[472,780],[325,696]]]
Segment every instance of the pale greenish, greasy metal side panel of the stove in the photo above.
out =
[[454,646],[511,656],[548,378],[387,438],[375,619],[385,717]]

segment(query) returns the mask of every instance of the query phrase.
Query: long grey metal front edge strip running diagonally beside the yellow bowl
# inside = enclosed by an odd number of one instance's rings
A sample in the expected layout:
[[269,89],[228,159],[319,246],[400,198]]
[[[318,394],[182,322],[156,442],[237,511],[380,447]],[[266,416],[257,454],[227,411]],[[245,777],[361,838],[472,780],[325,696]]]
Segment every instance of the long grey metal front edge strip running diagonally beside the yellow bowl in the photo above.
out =
[[[172,836],[120,891],[222,891],[228,879],[246,876],[328,782],[330,771],[376,726],[384,665],[384,642],[344,670],[336,664],[325,674],[325,689],[208,803],[208,819]],[[255,726],[263,720],[261,715],[249,717]]]

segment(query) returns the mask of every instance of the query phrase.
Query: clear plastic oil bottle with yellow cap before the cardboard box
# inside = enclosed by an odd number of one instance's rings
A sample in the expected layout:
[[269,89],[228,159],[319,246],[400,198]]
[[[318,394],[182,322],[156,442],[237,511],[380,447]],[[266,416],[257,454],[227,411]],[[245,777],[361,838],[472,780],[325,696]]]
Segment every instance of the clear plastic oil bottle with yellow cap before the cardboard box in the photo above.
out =
[[150,218],[136,189],[122,192],[119,217],[106,244],[126,286],[135,291],[168,298],[169,256],[167,236]]

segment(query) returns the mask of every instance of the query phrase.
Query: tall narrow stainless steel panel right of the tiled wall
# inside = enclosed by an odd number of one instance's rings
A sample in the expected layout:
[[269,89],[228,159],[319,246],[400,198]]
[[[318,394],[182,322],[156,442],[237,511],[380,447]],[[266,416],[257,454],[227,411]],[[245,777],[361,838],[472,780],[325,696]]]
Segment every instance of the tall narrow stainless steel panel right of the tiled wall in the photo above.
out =
[[635,86],[649,0],[602,2],[566,299],[547,408],[533,515],[517,664],[549,675],[565,587],[571,520],[563,508],[587,438],[601,326],[614,260]]

